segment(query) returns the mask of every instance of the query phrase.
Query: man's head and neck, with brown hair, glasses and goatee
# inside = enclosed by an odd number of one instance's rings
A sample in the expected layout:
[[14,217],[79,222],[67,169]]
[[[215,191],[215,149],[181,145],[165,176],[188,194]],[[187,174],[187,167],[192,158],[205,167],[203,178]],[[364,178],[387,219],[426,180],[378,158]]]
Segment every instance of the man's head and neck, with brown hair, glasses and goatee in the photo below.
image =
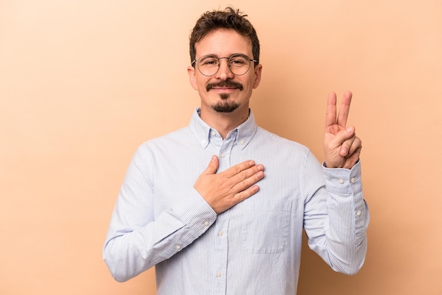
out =
[[201,118],[213,111],[248,116],[252,90],[261,80],[259,42],[239,11],[203,14],[191,34],[190,83],[201,97]]

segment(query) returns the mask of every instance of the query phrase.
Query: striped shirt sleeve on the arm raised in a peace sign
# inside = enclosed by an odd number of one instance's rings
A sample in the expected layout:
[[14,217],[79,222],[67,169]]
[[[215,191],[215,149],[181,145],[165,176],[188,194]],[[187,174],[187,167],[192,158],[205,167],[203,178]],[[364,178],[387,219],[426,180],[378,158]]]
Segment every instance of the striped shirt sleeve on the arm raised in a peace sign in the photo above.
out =
[[370,219],[362,194],[361,164],[329,169],[313,158],[310,154],[304,176],[304,229],[309,247],[333,270],[354,275],[364,264]]

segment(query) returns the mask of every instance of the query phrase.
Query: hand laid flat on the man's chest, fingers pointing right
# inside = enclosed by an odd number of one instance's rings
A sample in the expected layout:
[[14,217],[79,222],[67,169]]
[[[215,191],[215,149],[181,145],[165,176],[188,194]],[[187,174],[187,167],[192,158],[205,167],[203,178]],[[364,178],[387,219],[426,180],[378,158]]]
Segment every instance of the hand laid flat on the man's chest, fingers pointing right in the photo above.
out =
[[255,183],[264,177],[264,167],[250,160],[216,173],[218,166],[219,159],[213,156],[193,188],[220,214],[259,191]]

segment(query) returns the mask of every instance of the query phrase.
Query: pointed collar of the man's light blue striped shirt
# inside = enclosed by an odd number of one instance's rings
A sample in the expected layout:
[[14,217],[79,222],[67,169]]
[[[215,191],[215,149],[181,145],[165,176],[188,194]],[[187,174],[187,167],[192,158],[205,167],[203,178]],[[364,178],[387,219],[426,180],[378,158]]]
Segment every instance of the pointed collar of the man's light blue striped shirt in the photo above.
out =
[[[212,136],[211,131],[218,132],[206,124],[205,121],[201,119],[200,114],[201,108],[197,107],[192,114],[190,128],[201,146],[206,148],[210,143],[210,138]],[[255,135],[257,128],[258,126],[256,126],[253,112],[249,109],[249,118],[247,118],[243,124],[230,131],[228,136],[236,136],[235,143],[239,145],[240,148],[245,148],[247,143],[249,143]]]

